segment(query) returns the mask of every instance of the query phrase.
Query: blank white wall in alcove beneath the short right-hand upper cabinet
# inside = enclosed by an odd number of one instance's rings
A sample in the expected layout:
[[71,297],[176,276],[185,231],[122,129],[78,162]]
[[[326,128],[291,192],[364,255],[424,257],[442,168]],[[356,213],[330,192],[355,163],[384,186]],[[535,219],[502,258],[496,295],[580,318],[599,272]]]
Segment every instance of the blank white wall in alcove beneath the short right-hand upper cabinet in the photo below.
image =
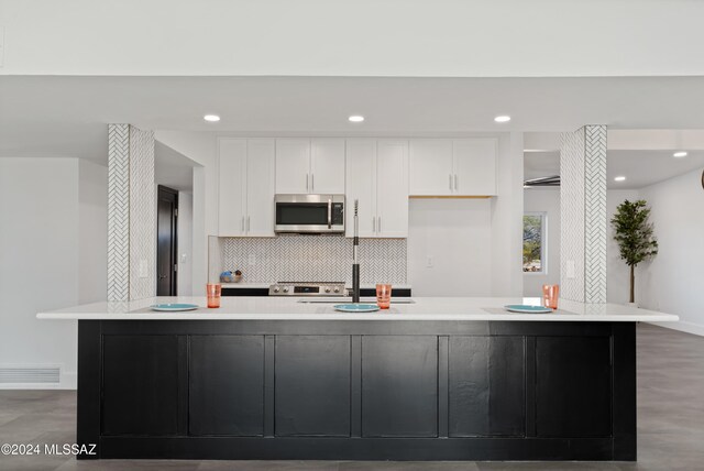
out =
[[415,296],[491,296],[488,199],[411,199],[408,226],[408,283]]

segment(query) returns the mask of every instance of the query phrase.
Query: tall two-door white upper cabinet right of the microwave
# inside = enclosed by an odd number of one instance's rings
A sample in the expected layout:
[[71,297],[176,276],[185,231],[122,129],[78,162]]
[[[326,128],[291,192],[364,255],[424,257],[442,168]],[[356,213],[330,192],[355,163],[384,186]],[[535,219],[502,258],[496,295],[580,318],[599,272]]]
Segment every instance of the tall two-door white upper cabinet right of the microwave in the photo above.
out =
[[359,200],[360,237],[408,237],[408,142],[350,139],[346,143],[345,234],[354,234]]

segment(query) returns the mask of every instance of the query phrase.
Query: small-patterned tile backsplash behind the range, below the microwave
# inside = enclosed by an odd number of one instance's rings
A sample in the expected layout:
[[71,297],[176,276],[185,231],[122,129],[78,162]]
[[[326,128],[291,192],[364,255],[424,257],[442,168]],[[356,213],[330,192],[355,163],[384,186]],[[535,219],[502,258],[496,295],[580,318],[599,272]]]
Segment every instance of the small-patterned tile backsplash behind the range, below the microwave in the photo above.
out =
[[[341,236],[223,238],[223,270],[243,282],[352,283],[352,239]],[[406,239],[360,239],[361,283],[406,284]]]

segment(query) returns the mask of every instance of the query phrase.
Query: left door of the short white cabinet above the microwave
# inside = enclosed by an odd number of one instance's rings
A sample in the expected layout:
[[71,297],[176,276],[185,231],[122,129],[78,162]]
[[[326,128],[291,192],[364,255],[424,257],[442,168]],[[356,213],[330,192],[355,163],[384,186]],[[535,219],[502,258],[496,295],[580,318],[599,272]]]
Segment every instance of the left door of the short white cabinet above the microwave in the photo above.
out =
[[310,191],[310,140],[276,140],[276,193]]

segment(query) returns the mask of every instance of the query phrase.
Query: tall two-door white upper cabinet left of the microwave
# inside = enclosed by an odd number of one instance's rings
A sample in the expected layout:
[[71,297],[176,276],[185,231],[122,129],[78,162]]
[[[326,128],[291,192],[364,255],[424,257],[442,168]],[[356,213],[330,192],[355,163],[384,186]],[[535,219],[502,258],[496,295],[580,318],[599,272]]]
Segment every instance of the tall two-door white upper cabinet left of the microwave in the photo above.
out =
[[219,141],[219,234],[274,236],[274,140]]

